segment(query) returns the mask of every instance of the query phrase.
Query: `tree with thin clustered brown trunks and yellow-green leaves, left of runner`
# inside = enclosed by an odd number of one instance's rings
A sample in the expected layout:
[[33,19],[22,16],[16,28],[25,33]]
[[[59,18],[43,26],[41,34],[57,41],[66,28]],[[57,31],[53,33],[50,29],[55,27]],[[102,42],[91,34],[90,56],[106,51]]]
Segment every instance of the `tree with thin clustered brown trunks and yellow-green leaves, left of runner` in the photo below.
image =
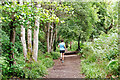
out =
[[61,15],[57,15],[57,14],[59,10],[60,12],[67,13],[68,8],[65,5],[61,5],[60,3],[57,2],[45,2],[45,3],[42,2],[41,7],[44,9],[44,13],[45,13],[42,16],[41,21],[43,21],[44,25],[42,26],[42,28],[46,34],[47,52],[52,52],[53,45],[54,48],[56,46],[56,36],[57,36],[56,25],[59,22],[59,17],[61,17]]

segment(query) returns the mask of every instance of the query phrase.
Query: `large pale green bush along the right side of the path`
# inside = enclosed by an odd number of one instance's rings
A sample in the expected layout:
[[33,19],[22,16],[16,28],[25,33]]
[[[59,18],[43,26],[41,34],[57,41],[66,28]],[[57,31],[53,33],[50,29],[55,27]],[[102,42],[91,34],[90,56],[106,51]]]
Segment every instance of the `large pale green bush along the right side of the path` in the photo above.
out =
[[[102,34],[94,42],[85,42],[82,49],[82,72],[89,78],[104,78],[109,74],[118,75],[117,33]],[[115,61],[114,61],[115,60]],[[112,61],[112,62],[111,62]]]

